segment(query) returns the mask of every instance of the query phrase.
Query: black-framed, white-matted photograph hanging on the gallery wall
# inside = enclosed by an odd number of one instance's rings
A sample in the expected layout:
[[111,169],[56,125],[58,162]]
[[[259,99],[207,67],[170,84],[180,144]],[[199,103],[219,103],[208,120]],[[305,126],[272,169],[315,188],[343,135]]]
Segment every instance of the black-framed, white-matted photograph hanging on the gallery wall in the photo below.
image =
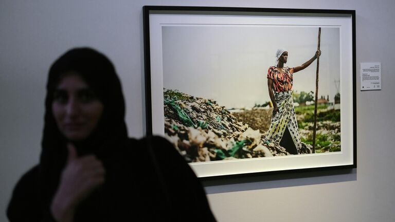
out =
[[147,135],[201,178],[356,168],[355,11],[143,7]]

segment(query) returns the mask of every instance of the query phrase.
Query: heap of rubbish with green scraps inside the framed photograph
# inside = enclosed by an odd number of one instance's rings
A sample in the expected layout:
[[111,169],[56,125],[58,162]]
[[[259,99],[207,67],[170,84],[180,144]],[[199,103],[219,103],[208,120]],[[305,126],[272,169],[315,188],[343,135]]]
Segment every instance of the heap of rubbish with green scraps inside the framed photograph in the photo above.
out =
[[[165,135],[188,162],[291,155],[216,101],[164,90]],[[302,144],[301,153],[311,145]]]

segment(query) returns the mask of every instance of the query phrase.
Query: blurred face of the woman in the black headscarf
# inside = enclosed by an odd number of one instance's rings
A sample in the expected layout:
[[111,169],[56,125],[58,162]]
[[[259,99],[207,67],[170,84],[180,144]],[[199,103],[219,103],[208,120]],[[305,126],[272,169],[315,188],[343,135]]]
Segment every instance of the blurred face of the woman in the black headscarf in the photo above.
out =
[[103,104],[77,72],[65,73],[53,93],[52,114],[71,141],[86,139],[97,126]]

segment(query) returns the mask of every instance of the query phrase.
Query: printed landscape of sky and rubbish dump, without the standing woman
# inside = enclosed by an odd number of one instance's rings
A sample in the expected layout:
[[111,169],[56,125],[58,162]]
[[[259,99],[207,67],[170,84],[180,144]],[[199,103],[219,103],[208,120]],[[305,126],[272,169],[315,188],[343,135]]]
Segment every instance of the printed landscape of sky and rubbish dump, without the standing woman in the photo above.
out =
[[[301,142],[294,155],[266,137],[267,74],[280,48],[288,52],[285,67],[310,60],[317,36],[312,26],[162,26],[165,136],[189,162],[311,154],[317,61],[292,76]],[[321,28],[320,50],[316,155],[342,151],[339,27]]]

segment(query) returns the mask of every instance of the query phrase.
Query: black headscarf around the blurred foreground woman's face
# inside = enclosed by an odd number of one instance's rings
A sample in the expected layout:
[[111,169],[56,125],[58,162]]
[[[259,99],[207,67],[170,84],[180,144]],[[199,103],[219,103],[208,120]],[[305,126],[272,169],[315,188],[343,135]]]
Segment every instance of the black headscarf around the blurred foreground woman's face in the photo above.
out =
[[40,187],[44,205],[56,191],[59,177],[67,158],[67,139],[61,134],[52,114],[53,93],[67,72],[76,72],[94,91],[103,104],[103,113],[94,131],[84,141],[75,143],[80,156],[96,155],[105,158],[116,152],[119,144],[127,140],[124,122],[125,105],[122,88],[111,61],[91,48],[67,51],[51,66],[45,99],[45,123],[40,157]]

